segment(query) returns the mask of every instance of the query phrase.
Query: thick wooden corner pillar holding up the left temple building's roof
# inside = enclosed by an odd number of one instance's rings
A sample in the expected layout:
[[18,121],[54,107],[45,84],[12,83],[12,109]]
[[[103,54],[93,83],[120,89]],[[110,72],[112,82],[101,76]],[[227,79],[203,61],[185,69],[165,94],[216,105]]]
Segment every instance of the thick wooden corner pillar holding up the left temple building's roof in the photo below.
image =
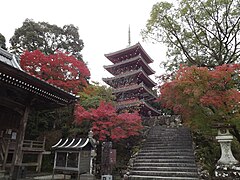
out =
[[28,104],[25,107],[23,116],[20,120],[20,125],[17,133],[16,148],[13,155],[11,174],[10,174],[11,179],[17,179],[20,173],[20,167],[21,167],[22,158],[23,158],[22,147],[23,147],[23,141],[24,141],[25,130],[27,126],[29,111],[30,111],[30,105]]

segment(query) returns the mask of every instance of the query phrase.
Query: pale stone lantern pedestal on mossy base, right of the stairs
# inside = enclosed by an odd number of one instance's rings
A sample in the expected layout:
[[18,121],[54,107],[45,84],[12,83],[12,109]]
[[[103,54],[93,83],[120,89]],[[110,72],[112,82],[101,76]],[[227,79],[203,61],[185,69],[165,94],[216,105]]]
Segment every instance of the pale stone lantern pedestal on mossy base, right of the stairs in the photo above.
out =
[[231,150],[233,136],[228,128],[218,129],[216,140],[220,143],[221,157],[215,168],[215,177],[221,179],[234,179],[240,177],[240,164],[234,158]]

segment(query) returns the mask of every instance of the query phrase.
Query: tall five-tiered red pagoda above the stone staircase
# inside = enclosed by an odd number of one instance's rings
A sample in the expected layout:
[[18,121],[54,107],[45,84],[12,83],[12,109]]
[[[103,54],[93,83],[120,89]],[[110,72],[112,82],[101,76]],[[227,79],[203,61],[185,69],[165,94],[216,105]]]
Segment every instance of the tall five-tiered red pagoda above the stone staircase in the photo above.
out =
[[113,64],[104,68],[113,75],[103,81],[113,88],[119,111],[138,110],[142,116],[158,116],[160,112],[150,105],[157,98],[152,88],[156,83],[149,77],[155,72],[149,66],[153,60],[140,43],[105,54]]

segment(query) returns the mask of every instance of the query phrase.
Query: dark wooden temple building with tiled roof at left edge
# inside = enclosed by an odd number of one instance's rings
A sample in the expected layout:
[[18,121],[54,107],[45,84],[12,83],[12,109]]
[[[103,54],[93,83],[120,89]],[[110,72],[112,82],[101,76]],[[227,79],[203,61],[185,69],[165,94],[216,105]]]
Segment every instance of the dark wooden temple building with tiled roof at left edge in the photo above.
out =
[[[17,179],[24,153],[38,153],[41,159],[44,143],[24,139],[32,109],[67,106],[76,99],[75,95],[24,72],[16,57],[0,48],[0,171],[7,170],[12,179]],[[10,152],[12,160],[8,166]]]

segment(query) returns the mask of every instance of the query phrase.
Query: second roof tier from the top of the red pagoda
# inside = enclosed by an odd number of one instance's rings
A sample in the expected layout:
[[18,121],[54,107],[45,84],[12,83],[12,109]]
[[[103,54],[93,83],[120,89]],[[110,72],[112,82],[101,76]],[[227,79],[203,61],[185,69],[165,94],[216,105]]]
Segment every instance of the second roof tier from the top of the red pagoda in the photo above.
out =
[[152,75],[155,73],[155,71],[146,63],[146,61],[140,56],[136,56],[130,59],[127,59],[125,61],[121,61],[118,62],[116,64],[113,65],[108,65],[108,66],[103,66],[108,72],[110,72],[112,75],[116,74],[115,69],[117,68],[122,68],[125,66],[136,66],[136,65],[140,65],[141,67],[143,67],[144,71],[146,72],[147,75]]

